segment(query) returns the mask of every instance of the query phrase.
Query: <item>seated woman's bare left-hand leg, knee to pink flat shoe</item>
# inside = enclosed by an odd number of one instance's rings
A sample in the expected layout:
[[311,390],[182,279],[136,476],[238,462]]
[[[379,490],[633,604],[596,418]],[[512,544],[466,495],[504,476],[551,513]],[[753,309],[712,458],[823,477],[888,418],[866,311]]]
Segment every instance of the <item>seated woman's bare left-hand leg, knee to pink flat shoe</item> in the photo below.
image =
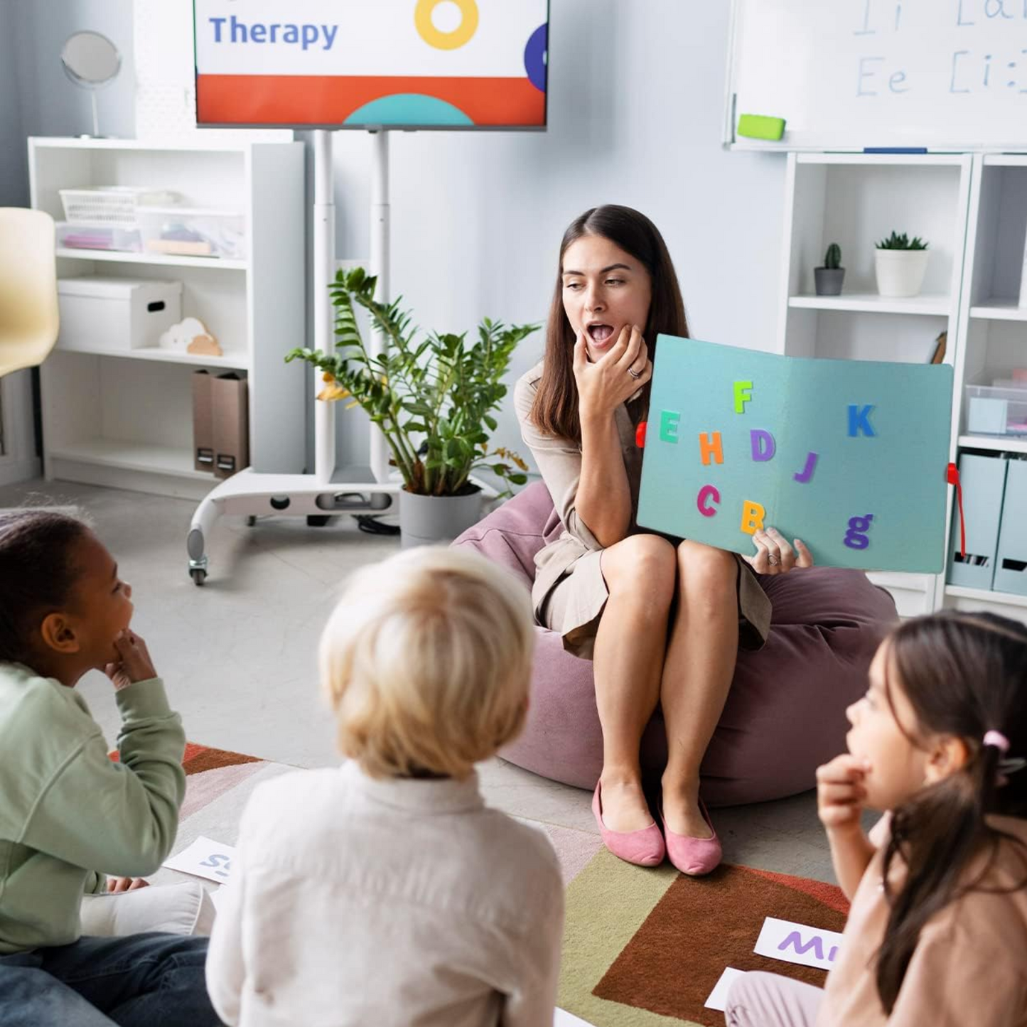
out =
[[639,745],[659,697],[676,559],[674,546],[658,535],[632,535],[602,556],[610,598],[593,662],[603,725],[603,823],[612,831],[652,824]]

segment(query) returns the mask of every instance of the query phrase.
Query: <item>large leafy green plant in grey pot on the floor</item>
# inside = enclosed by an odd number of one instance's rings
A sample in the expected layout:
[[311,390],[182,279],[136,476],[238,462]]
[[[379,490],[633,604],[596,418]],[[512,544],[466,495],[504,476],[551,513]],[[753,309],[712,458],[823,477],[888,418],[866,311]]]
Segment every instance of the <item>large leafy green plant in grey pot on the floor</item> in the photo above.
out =
[[[376,279],[363,268],[339,271],[329,287],[336,308],[336,349],[290,350],[320,369],[321,402],[349,400],[385,436],[391,462],[403,478],[400,528],[403,544],[456,538],[481,518],[481,488],[471,481],[491,470],[507,487],[523,485],[527,465],[502,448],[490,450],[496,429],[493,412],[506,395],[502,377],[514,349],[537,325],[512,325],[486,317],[477,339],[463,335],[422,335],[411,326],[401,299],[375,300]],[[371,317],[385,339],[373,353],[356,324],[356,308]]]

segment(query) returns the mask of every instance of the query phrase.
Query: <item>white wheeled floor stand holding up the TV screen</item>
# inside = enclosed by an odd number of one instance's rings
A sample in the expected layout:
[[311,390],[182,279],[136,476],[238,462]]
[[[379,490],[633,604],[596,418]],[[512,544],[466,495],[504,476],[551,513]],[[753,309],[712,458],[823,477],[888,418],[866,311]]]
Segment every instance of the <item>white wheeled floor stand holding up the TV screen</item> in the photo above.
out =
[[[388,302],[389,203],[388,131],[372,132],[371,268],[378,277],[375,299]],[[332,134],[318,128],[314,137],[313,289],[314,348],[330,352],[335,346],[334,307],[329,286],[335,278],[335,195],[333,189]],[[371,349],[384,351],[384,336],[375,332]],[[315,394],[322,385],[314,371]],[[371,425],[369,466],[337,467],[335,404],[314,406],[314,472],[312,474],[263,473],[248,467],[226,479],[200,502],[189,527],[186,548],[189,575],[202,584],[207,575],[207,539],[223,515],[255,518],[266,515],[326,517],[332,514],[383,514],[393,509],[402,483],[390,479],[385,438]]]

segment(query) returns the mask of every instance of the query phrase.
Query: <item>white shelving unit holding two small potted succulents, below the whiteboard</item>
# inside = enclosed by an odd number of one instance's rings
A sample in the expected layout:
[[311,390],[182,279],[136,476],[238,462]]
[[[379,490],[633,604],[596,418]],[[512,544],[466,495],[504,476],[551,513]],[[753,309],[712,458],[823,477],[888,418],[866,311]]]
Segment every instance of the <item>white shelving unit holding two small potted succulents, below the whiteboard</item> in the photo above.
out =
[[[954,364],[973,170],[965,154],[790,154],[776,351],[920,364],[947,332],[945,359]],[[874,243],[892,230],[930,244],[923,290],[911,299],[877,294]],[[813,268],[831,242],[841,246],[843,292],[816,296]],[[944,581],[944,574],[870,577],[904,616],[933,610]]]

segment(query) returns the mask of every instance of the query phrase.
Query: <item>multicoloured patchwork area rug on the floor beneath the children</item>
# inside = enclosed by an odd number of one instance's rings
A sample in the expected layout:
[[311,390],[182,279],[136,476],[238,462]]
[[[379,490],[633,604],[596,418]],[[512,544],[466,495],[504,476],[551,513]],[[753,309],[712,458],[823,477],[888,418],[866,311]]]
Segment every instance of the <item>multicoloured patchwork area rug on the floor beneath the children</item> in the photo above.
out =
[[[175,851],[199,835],[232,845],[254,788],[295,767],[190,744]],[[645,870],[603,848],[598,835],[526,821],[549,836],[567,884],[559,1005],[596,1027],[720,1027],[703,1007],[725,966],[823,985],[825,973],[753,952],[766,916],[841,930],[848,905],[830,884],[749,867],[709,877],[669,864]],[[155,883],[181,879],[162,869]]]

